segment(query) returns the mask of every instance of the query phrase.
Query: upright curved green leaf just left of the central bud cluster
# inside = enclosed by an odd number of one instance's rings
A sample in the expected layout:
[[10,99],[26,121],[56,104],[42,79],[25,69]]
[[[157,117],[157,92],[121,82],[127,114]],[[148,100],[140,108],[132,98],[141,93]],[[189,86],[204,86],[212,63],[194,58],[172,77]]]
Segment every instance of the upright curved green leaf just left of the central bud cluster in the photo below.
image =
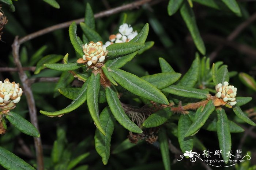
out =
[[82,58],[82,56],[84,55],[83,52],[83,47],[82,45],[79,43],[78,37],[76,36],[76,23],[73,22],[68,29],[69,32],[69,38],[71,41],[71,44],[73,45],[75,51],[81,56],[80,58]]

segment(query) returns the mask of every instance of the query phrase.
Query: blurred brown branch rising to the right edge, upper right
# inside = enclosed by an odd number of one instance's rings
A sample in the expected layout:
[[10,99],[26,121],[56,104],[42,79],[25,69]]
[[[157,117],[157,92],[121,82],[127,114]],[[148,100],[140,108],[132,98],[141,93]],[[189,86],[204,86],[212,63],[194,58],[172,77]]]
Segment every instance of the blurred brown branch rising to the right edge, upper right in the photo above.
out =
[[[251,17],[249,17],[246,21],[238,25],[236,29],[234,29],[234,31],[230,33],[230,35],[226,38],[226,41],[234,40],[246,27],[248,27],[248,25],[253,23],[253,21],[255,20],[256,20],[256,13],[253,13]],[[222,43],[221,45],[215,48],[215,50],[209,55],[209,58],[211,61],[216,58],[216,56],[222,50],[223,47],[224,47],[224,43]]]

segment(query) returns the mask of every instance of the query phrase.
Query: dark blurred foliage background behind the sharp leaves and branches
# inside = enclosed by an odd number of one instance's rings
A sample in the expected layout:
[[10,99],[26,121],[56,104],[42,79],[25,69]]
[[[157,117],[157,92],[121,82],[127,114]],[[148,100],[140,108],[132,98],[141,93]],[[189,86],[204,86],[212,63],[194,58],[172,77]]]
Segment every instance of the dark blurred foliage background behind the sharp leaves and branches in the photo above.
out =
[[[219,0],[216,1],[219,2]],[[40,0],[18,0],[13,1],[16,8],[15,12],[9,11],[9,7],[3,4],[2,10],[5,16],[7,16],[8,24],[5,25],[4,33],[1,36],[0,67],[15,67],[11,54],[11,44],[15,36],[23,37],[54,24],[82,18],[84,17],[86,3],[90,3],[94,13],[98,13],[131,2],[132,0],[59,0],[60,8],[56,9]],[[240,24],[248,22],[248,18],[256,15],[256,2],[253,0],[238,0],[241,16],[236,15],[223,5],[211,8],[198,3],[202,2],[201,0],[193,0],[192,2],[197,26],[206,46],[205,56],[211,56],[212,52],[216,51],[216,47],[219,45],[224,46],[215,58],[211,58],[211,64],[223,61],[228,66],[229,71],[244,72],[251,76],[252,79],[255,79],[256,24],[249,24],[234,40],[227,41],[226,38]],[[158,62],[159,57],[164,58],[176,72],[182,74],[191,66],[197,49],[180,13],[177,12],[169,16],[167,5],[167,0],[153,0],[151,3],[145,4],[138,9],[124,11],[128,16],[127,23],[132,25],[133,30],[139,32],[145,23],[149,23],[150,31],[147,41],[155,42],[150,50],[133,59],[123,68],[124,70],[138,76],[144,76],[148,73],[159,73],[161,72]],[[95,20],[97,30],[105,41],[108,40],[110,34],[116,33],[114,31],[118,27],[119,19],[120,13]],[[78,29],[78,35],[82,35],[81,29]],[[69,56],[76,55],[69,40],[68,28],[59,29],[26,42],[20,49],[20,60],[23,67],[35,66],[36,62],[32,60],[33,56],[38,58],[38,56],[43,57],[48,54],[65,55],[66,53]],[[37,75],[29,71],[26,73],[30,78],[57,77],[61,75],[60,71],[48,69],[41,71]],[[241,74],[240,78],[237,74],[230,82],[239,89],[239,96],[251,96],[253,98],[252,102],[242,108],[247,110],[248,114],[251,114],[251,119],[255,120],[255,89],[243,83],[241,77]],[[0,80],[5,78],[20,82],[17,72],[0,72]],[[55,86],[56,82],[38,82],[32,85],[37,110],[56,111],[64,108],[71,102],[71,100],[62,95],[53,98]],[[75,84],[74,86],[79,85]],[[104,107],[105,105],[102,104],[102,108]],[[22,100],[15,108],[15,112],[29,119],[25,95],[23,95]],[[229,111],[227,111],[228,113]],[[231,120],[234,114],[228,116]],[[142,142],[131,149],[123,152],[118,151],[117,146],[127,139],[128,136],[128,131],[118,123],[115,124],[116,128],[112,135],[112,154],[110,155],[108,165],[104,166],[100,156],[95,151],[93,140],[95,126],[86,103],[70,114],[60,118],[49,118],[38,112],[38,120],[47,169],[61,169],[61,167],[58,167],[61,166],[58,163],[61,161],[65,162],[66,160],[70,161],[84,153],[90,153],[90,155],[80,162],[81,169],[86,169],[87,165],[90,167],[89,169],[149,170],[163,168],[158,142],[155,142],[153,145]],[[251,164],[256,164],[256,131],[247,124],[241,124],[241,122],[238,122],[238,124],[245,129],[245,132],[232,134],[232,148],[235,150],[242,147],[242,150],[245,152],[251,151]],[[56,135],[56,131],[57,133],[63,131],[62,133],[64,134],[62,136]],[[207,149],[218,149],[216,133],[202,129],[197,134],[198,136]],[[177,138],[172,134],[169,137],[172,144],[178,148]],[[54,141],[58,139],[63,142],[62,145],[65,149],[59,153],[61,154],[61,160],[56,161],[56,163],[52,158],[52,148],[54,148]],[[32,137],[20,133],[14,127],[8,127],[7,133],[0,137],[0,146],[12,151],[29,163],[35,163]],[[189,160],[177,162],[176,156],[175,154],[170,154],[171,161],[173,161],[172,169],[189,168],[191,166],[195,169],[202,167],[200,163],[191,164]]]

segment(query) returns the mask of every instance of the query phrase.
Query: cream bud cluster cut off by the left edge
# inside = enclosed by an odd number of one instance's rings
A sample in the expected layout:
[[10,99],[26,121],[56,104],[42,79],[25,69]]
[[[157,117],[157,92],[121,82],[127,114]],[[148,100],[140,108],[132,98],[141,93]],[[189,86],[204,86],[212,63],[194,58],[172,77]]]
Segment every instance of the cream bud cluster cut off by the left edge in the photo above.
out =
[[8,113],[11,109],[15,108],[22,92],[22,89],[19,88],[19,83],[11,83],[9,79],[5,79],[4,83],[0,81],[0,112]]

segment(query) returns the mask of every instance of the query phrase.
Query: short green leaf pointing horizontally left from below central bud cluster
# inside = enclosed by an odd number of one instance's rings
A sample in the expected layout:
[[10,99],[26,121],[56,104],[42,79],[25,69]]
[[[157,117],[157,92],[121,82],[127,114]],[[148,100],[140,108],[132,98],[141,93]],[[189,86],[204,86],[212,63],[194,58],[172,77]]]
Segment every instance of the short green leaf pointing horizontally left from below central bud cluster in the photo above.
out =
[[69,70],[76,70],[80,67],[84,67],[85,65],[78,64],[78,63],[67,63],[67,64],[54,63],[54,64],[44,64],[44,66],[52,70],[69,71]]

